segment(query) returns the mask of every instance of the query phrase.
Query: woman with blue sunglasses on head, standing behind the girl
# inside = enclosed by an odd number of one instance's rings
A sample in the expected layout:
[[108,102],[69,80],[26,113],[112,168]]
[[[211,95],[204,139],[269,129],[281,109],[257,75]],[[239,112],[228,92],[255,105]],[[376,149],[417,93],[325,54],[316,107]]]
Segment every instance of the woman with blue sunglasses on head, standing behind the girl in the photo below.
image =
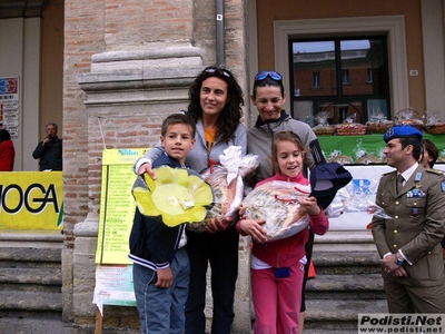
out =
[[[271,156],[271,139],[275,134],[280,131],[294,131],[301,139],[303,145],[307,148],[307,166],[313,168],[315,165],[326,163],[317,136],[309,125],[304,121],[296,120],[286,114],[283,106],[286,101],[285,87],[283,77],[276,71],[261,71],[255,76],[251,102],[257,107],[258,119],[255,126],[247,132],[247,151],[259,156],[260,165],[256,170],[254,183],[261,181],[274,175]],[[307,170],[304,168],[303,174],[307,177]],[[314,233],[309,233],[309,239],[306,243],[305,279],[301,291],[301,307],[299,331],[303,333],[303,324],[306,311],[305,287],[309,273],[309,263],[314,246]]]

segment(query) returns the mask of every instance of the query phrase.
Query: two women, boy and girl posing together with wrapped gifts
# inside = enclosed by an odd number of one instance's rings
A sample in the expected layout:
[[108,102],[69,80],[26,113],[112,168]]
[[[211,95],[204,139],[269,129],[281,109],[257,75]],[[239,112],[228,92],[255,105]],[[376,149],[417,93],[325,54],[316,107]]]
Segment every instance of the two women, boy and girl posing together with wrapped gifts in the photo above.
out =
[[[152,168],[166,164],[172,167],[187,166],[199,173],[211,164],[218,164],[219,156],[226,148],[239,146],[243,155],[249,153],[259,157],[260,165],[255,174],[255,183],[265,183],[278,177],[307,185],[308,180],[304,176],[307,175],[306,166],[324,161],[319,158],[323,156],[322,150],[312,128],[305,122],[293,119],[283,110],[285,99],[281,76],[275,71],[259,72],[255,77],[251,95],[259,116],[255,127],[248,131],[240,122],[244,97],[236,78],[227,69],[208,67],[190,86],[187,111],[182,116],[179,114],[167,117],[162,125],[160,143],[136,161],[135,173],[138,175],[148,173],[150,177],[156,178],[156,170]],[[181,117],[182,122],[171,124],[172,119],[179,121]],[[189,118],[192,119],[196,130],[188,120],[185,120]],[[166,126],[168,124],[170,126]],[[281,134],[283,137],[278,138],[276,134]],[[169,140],[174,144],[169,145]],[[189,141],[191,145],[188,145]],[[317,154],[314,155],[312,151]],[[310,232],[324,234],[328,220],[316,199],[309,197],[303,200],[301,207],[310,217]],[[149,227],[150,224],[161,223],[155,223],[156,219],[150,217],[141,217],[137,210],[130,237],[130,258],[135,262],[134,284],[141,333],[182,333],[184,330],[186,333],[206,333],[208,264],[211,267],[214,299],[211,333],[230,333],[235,317],[239,233],[250,234],[254,240],[260,240],[257,246],[259,250],[253,255],[255,261],[251,272],[267,273],[264,276],[253,276],[253,287],[257,287],[253,289],[256,312],[255,333],[297,333],[305,264],[308,263],[305,245],[309,239],[309,229],[289,238],[285,244],[268,243],[264,239],[261,222],[243,219],[243,213],[240,215],[241,218],[212,220],[208,226],[209,233],[189,229],[175,232],[176,240],[182,243],[179,242],[178,246],[175,246],[178,250],[172,254],[167,250],[150,249],[150,243],[140,236],[140,232],[145,230],[149,235],[148,230],[154,228]],[[158,233],[161,238],[161,229]],[[148,249],[145,253],[140,252],[140,247],[144,247],[141,243]],[[152,247],[156,247],[156,244]],[[176,279],[179,281],[181,277],[176,277],[174,267],[171,267],[172,278],[170,272],[167,282],[162,281],[164,274],[160,274],[164,271],[162,265],[174,266],[178,257],[182,256],[182,247],[187,249],[190,264],[187,298],[184,298],[184,294],[181,297],[176,295],[184,293],[185,284],[181,282],[179,291],[176,291]],[[265,252],[268,249],[270,252]],[[288,252],[291,252],[293,256],[286,258]],[[277,265],[273,257],[280,255],[284,256],[284,261]],[[277,274],[278,267],[280,274]],[[270,294],[275,294],[275,299],[261,298],[265,287]],[[158,293],[164,293],[168,302],[158,298]],[[181,307],[184,320],[182,314],[177,312]],[[277,312],[281,307],[283,312]],[[164,314],[170,316],[160,318],[159,314],[155,315],[159,308],[166,310]],[[275,312],[271,313],[270,310]]]

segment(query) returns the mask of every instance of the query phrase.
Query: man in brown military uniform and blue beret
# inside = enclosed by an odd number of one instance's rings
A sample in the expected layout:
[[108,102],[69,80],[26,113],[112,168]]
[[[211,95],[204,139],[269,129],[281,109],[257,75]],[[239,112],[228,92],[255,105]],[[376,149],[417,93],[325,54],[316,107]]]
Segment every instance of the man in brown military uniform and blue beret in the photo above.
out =
[[389,313],[444,313],[445,177],[418,164],[423,134],[412,126],[389,128],[384,140],[387,165],[376,205],[388,217],[375,215],[374,242]]

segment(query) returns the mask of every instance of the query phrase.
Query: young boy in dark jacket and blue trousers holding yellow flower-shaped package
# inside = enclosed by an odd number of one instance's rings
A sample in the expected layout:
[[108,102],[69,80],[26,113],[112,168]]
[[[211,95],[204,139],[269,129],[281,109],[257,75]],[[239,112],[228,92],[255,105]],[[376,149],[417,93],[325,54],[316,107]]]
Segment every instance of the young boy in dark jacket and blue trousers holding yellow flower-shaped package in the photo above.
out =
[[[166,153],[154,161],[152,167],[185,168],[186,156],[195,145],[195,122],[187,115],[167,117],[160,136]],[[180,334],[184,331],[190,274],[186,243],[185,224],[168,227],[160,217],[142,216],[136,209],[129,258],[134,262],[135,295],[142,334]]]

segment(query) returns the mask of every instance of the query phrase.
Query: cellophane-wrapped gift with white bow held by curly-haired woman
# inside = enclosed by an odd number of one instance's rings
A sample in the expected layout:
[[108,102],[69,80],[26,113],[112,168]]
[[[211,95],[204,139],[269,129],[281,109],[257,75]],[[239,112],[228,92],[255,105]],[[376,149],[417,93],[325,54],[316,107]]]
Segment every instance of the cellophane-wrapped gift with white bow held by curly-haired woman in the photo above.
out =
[[[214,206],[207,213],[204,222],[188,224],[194,232],[207,232],[206,225],[211,219],[221,220],[233,217],[243,202],[244,178],[258,167],[258,156],[241,157],[239,146],[230,146],[219,156],[220,165],[214,165],[201,173],[201,177],[210,184],[214,190]],[[235,222],[234,222],[235,223]]]

